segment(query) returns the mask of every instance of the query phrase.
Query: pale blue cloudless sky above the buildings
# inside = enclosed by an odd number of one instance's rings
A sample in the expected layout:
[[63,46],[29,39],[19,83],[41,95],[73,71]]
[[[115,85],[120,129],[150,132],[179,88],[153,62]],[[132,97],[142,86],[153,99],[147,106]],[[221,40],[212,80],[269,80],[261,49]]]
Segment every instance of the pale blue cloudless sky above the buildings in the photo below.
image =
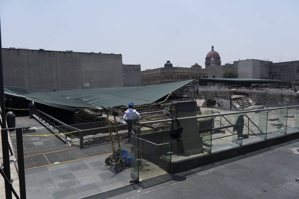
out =
[[141,69],[299,59],[299,1],[0,1],[2,47],[123,55]]

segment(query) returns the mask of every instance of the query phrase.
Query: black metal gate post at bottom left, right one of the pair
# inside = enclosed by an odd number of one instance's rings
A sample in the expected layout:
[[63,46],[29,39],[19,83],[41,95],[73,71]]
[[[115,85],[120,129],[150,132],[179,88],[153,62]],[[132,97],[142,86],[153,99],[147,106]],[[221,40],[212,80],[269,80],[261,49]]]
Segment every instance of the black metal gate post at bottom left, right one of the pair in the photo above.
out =
[[24,151],[23,151],[23,129],[16,129],[16,147],[18,153],[18,168],[19,168],[19,183],[20,197],[26,199],[26,183],[25,183],[25,166],[24,166]]

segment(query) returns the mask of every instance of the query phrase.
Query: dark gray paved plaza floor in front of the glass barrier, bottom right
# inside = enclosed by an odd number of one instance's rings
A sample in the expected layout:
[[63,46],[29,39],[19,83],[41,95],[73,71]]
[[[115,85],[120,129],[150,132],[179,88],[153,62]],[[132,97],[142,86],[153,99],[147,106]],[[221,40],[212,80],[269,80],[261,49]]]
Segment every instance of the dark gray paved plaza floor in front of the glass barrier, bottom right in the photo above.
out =
[[95,198],[299,199],[299,139]]

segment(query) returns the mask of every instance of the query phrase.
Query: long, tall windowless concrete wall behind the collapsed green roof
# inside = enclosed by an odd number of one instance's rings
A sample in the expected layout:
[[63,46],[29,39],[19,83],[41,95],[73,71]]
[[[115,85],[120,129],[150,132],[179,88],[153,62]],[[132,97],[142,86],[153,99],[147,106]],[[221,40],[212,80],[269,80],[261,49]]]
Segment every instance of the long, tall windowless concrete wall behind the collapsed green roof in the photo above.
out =
[[122,55],[2,48],[4,86],[38,91],[123,87]]

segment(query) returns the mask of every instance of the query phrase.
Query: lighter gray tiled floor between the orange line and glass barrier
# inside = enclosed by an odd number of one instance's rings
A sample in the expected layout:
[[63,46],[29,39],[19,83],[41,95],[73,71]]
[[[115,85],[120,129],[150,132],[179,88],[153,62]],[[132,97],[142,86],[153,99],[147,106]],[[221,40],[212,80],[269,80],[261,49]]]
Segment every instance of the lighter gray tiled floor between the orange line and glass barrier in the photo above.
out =
[[130,169],[116,173],[106,157],[26,170],[27,198],[80,198],[129,184]]

